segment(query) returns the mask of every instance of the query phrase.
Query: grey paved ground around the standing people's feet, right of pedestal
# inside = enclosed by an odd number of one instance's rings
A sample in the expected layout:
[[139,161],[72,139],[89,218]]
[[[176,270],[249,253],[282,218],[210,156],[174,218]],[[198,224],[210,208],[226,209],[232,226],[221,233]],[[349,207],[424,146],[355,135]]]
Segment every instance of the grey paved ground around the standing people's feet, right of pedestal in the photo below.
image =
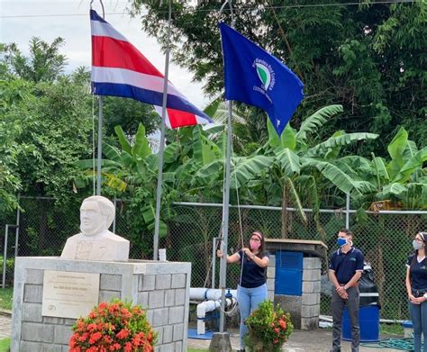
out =
[[[384,336],[381,338],[390,338]],[[395,338],[395,337],[394,337]],[[231,331],[232,348],[239,347],[239,335],[236,330]],[[188,338],[189,348],[208,349],[210,340]],[[332,347],[332,330],[315,329],[315,330],[295,330],[286,342],[283,351],[286,352],[329,352]],[[350,352],[350,342],[342,341],[341,352]],[[360,347],[359,352],[376,352],[377,348]],[[397,352],[393,348],[381,348],[381,352]]]

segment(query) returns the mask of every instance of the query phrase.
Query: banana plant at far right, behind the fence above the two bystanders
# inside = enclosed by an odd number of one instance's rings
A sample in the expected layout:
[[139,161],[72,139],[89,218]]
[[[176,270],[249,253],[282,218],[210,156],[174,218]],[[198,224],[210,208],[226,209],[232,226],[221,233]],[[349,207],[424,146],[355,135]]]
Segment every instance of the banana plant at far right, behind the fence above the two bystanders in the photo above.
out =
[[[374,185],[372,192],[359,198],[359,206],[370,210],[388,209],[427,209],[427,169],[423,168],[427,160],[427,148],[418,149],[408,133],[400,128],[394,139],[387,146],[390,159],[376,157],[343,158],[359,177]],[[406,236],[411,238],[419,230],[422,219],[413,217],[406,220]],[[359,212],[359,233],[375,239],[376,246],[367,251],[367,257],[377,267],[377,285],[380,297],[386,294],[386,275],[384,263],[384,244],[386,243],[385,216],[368,217],[364,211]]]

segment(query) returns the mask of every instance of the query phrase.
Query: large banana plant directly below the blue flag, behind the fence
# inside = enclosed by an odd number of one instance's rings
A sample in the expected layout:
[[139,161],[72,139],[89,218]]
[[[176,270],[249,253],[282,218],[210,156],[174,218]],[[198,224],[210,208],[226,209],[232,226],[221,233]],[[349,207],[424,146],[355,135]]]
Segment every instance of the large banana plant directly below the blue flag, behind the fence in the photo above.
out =
[[286,208],[294,206],[302,221],[306,221],[303,204],[312,207],[318,230],[323,234],[318,221],[321,196],[328,189],[335,188],[343,194],[361,196],[373,185],[360,179],[356,172],[341,161],[341,148],[358,140],[376,139],[372,133],[335,132],[331,138],[311,145],[310,141],[317,129],[335,114],[342,112],[341,105],[323,107],[306,118],[300,129],[295,131],[288,124],[278,138],[273,126],[268,122],[269,140],[262,152],[275,160],[271,174],[272,182],[282,188],[282,236],[289,231]]

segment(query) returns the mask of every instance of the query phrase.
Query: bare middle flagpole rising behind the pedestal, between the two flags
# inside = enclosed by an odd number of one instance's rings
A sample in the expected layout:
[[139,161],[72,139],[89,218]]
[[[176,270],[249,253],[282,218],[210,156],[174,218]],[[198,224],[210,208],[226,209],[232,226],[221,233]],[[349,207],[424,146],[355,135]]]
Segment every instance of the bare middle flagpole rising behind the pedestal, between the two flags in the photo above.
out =
[[168,41],[166,45],[165,59],[165,80],[163,83],[163,104],[161,107],[161,125],[160,125],[160,146],[159,146],[159,174],[157,179],[156,194],[156,215],[154,222],[153,239],[153,260],[158,260],[159,256],[159,227],[160,227],[160,205],[161,205],[161,183],[163,178],[163,150],[165,149],[165,122],[166,122],[166,103],[168,101],[168,74],[169,74],[169,46],[170,46],[170,25],[172,20],[172,0],[169,0],[168,15]]

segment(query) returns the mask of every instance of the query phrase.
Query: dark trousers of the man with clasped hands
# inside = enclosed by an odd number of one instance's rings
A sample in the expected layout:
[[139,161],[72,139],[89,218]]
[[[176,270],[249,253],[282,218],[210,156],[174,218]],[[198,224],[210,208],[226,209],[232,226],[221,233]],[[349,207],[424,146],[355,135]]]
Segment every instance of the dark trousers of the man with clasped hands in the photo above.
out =
[[350,315],[351,352],[359,352],[359,287],[350,287],[347,293],[349,294],[349,299],[344,300],[335,291],[335,288],[332,288],[332,352],[341,351],[342,313],[345,306],[347,306]]

